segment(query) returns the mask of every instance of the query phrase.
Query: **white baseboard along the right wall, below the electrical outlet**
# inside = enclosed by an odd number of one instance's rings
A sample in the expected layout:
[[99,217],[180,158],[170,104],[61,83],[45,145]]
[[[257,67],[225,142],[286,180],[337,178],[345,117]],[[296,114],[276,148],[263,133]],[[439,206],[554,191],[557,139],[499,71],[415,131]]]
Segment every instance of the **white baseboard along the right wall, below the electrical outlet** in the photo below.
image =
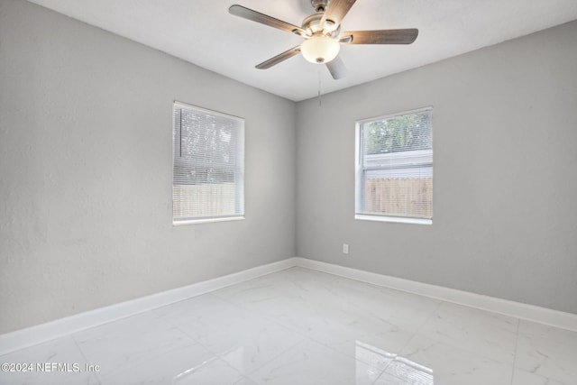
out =
[[577,314],[564,313],[545,307],[536,307],[534,305],[509,301],[507,299],[483,296],[468,291],[444,288],[414,280],[403,280],[369,271],[347,268],[333,263],[308,260],[305,258],[295,258],[294,260],[297,266],[303,268],[324,271],[352,280],[361,280],[362,282],[372,283],[390,289],[407,291],[409,293],[441,299],[467,307],[476,307],[505,316],[514,316],[540,324],[577,331]]

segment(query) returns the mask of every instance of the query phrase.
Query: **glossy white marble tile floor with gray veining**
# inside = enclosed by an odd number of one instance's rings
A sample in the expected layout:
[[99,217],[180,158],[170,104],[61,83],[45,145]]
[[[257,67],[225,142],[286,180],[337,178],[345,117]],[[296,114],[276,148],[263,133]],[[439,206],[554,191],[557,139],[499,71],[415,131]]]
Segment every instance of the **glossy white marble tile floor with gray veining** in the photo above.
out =
[[0,362],[34,366],[9,385],[575,385],[577,333],[292,268]]

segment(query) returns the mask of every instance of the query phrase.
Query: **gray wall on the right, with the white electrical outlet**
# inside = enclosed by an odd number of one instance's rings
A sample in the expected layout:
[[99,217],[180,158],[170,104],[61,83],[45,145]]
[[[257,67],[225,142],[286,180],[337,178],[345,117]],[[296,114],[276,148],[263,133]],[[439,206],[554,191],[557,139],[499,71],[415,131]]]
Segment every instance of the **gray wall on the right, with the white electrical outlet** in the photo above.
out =
[[[576,37],[572,22],[299,103],[298,256],[577,313]],[[355,120],[428,105],[433,225],[355,221]]]

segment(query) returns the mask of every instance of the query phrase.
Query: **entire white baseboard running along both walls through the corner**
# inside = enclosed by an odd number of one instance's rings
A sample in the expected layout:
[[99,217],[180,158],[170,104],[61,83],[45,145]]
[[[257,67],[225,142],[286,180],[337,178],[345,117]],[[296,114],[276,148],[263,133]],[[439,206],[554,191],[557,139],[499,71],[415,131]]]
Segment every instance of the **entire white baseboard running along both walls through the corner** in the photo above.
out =
[[333,263],[294,257],[0,335],[0,355],[295,266],[577,331],[577,315],[575,314],[347,268]]

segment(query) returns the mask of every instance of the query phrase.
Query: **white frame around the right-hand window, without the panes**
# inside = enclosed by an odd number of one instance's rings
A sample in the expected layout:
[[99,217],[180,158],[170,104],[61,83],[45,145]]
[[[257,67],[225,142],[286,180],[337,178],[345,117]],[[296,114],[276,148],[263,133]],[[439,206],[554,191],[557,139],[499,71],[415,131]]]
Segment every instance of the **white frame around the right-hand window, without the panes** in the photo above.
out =
[[[364,220],[364,221],[376,221],[376,222],[389,222],[389,223],[399,223],[399,224],[413,224],[413,225],[433,225],[433,217],[431,218],[420,218],[411,216],[396,216],[396,215],[379,215],[373,213],[363,213],[363,200],[364,200],[364,179],[363,173],[364,168],[362,165],[362,151],[363,151],[363,138],[362,138],[362,125],[370,122],[375,122],[379,120],[386,120],[393,117],[403,116],[403,115],[413,115],[422,113],[425,111],[433,112],[433,106],[421,107],[413,110],[402,111],[398,113],[380,115],[370,118],[364,118],[357,120],[355,122],[355,143],[354,143],[354,163],[355,163],[355,180],[354,180],[354,219]],[[433,136],[433,127],[431,126],[431,136]],[[433,151],[433,148],[431,149]],[[433,156],[434,156],[433,151]],[[431,167],[433,168],[434,162],[432,160]],[[435,179],[433,179],[435,183]]]

